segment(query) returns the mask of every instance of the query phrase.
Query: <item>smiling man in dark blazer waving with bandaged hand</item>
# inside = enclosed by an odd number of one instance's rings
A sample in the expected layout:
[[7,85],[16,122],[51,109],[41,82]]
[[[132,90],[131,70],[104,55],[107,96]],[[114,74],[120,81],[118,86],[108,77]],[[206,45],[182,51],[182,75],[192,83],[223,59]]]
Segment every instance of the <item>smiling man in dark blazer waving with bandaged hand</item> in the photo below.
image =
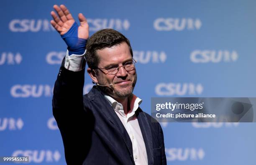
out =
[[[67,164],[166,165],[161,126],[132,94],[137,75],[129,40],[103,29],[87,41],[89,26],[81,13],[78,26],[64,5],[54,9],[58,15],[51,12],[51,24],[68,46],[53,96]],[[83,96],[84,53],[97,86]]]

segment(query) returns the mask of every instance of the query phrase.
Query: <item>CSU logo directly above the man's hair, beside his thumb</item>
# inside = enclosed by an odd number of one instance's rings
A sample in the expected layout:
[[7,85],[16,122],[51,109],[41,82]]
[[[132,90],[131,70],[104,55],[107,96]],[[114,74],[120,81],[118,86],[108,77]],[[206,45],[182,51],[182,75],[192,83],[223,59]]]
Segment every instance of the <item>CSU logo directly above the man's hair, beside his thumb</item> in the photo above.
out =
[[130,22],[128,20],[120,19],[87,19],[91,31],[98,31],[100,29],[111,28],[115,30],[128,30]]

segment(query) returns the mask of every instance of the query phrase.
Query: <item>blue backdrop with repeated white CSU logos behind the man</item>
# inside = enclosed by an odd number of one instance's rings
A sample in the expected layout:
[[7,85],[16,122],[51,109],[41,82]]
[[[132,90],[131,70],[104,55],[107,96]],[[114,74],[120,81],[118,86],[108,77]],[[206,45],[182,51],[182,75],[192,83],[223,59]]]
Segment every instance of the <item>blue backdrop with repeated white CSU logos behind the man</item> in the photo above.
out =
[[[254,0],[2,0],[0,156],[65,164],[52,115],[54,81],[66,52],[51,27],[54,4],[83,13],[90,35],[113,28],[138,61],[134,93],[151,97],[256,97]],[[92,87],[85,77],[84,93]],[[68,122],[68,121],[67,121]],[[162,123],[169,165],[255,165],[255,123]]]

